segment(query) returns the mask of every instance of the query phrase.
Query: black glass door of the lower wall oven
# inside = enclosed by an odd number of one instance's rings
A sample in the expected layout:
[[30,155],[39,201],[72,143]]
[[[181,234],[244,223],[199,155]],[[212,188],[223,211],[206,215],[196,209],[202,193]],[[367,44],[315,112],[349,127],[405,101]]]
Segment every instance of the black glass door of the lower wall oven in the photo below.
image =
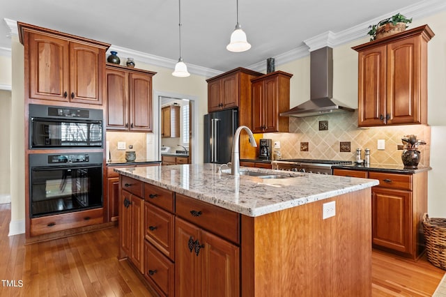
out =
[[102,207],[102,164],[31,167],[31,218]]

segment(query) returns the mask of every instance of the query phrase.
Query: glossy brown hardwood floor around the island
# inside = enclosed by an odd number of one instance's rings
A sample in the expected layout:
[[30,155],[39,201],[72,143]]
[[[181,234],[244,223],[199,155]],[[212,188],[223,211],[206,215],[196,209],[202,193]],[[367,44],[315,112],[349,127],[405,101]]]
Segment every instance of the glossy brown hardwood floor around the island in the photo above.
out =
[[[24,245],[24,234],[8,237],[9,222],[10,204],[0,204],[0,296],[150,296],[116,257],[116,227]],[[373,296],[431,296],[445,274],[425,257],[374,251],[372,263]]]

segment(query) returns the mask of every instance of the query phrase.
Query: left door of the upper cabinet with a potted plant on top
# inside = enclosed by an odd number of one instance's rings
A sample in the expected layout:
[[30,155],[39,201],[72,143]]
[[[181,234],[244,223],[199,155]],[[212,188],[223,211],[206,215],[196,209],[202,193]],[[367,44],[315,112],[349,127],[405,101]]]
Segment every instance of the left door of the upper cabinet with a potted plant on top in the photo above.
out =
[[359,52],[358,69],[358,125],[385,125],[385,45]]

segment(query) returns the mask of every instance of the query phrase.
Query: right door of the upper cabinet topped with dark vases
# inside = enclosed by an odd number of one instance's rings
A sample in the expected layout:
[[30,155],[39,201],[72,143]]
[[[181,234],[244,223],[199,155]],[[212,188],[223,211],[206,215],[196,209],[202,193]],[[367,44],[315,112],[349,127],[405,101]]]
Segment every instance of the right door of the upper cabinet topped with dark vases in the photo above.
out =
[[129,96],[130,130],[152,132],[152,77],[130,73]]

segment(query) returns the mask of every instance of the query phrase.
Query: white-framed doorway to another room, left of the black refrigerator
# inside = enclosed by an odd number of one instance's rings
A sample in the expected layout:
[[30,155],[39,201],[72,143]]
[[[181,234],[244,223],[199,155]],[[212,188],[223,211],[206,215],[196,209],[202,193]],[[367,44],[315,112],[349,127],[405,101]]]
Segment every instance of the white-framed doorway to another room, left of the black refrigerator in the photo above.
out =
[[[154,92],[154,98],[154,110],[157,114],[157,120],[154,120],[158,125],[153,127],[153,134],[157,135],[157,155],[159,159],[161,160],[161,147],[164,146],[170,148],[169,151],[171,153],[187,150],[190,156],[190,163],[197,163],[198,123],[197,119],[194,119],[194,115],[198,113],[197,98],[190,95],[160,91]],[[173,125],[178,124],[178,126],[176,126],[176,129],[171,129],[174,130],[174,133],[171,135],[164,133],[165,137],[163,137],[162,131],[163,107],[164,112],[167,112],[166,107],[171,107],[172,110],[178,112],[178,123],[176,121],[172,123]]]

